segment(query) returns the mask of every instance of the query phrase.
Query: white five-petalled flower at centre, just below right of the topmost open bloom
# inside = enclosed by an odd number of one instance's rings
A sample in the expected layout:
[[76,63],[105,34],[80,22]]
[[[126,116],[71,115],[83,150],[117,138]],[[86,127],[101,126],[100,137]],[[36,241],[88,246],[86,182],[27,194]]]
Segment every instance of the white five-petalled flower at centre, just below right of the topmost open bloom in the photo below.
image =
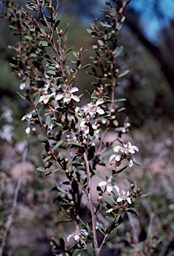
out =
[[104,114],[104,110],[101,109],[101,107],[98,107],[98,105],[104,103],[103,99],[98,99],[96,101],[96,103],[94,103],[93,101],[89,104],[87,104],[86,106],[84,106],[84,112],[86,113],[86,115],[96,115],[96,113],[103,115]]

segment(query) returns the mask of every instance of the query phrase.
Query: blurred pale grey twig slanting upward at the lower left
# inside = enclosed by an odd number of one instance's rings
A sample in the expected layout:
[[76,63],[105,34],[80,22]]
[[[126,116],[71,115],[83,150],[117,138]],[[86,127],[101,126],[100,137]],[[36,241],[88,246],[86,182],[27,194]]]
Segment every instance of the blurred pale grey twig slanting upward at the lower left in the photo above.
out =
[[19,190],[21,188],[21,183],[23,181],[23,172],[24,172],[25,162],[26,162],[26,158],[27,158],[28,148],[29,148],[29,136],[27,138],[25,149],[23,151],[21,174],[19,176],[19,179],[17,181],[17,186],[15,188],[15,193],[14,193],[14,197],[13,197],[13,205],[11,207],[11,213],[8,216],[7,223],[5,225],[5,231],[3,232],[2,243],[1,243],[1,247],[0,247],[0,256],[3,256],[3,251],[5,249],[6,240],[7,240],[7,235],[9,233],[9,229],[10,229],[11,223],[13,221],[13,216],[14,216],[15,210],[17,208],[17,199],[18,199],[18,195],[19,195]]

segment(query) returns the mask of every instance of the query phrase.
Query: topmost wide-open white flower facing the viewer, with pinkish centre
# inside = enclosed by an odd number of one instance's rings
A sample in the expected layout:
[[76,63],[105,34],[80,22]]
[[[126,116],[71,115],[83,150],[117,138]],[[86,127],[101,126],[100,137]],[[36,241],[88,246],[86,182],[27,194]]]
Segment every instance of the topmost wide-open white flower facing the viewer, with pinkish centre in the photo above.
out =
[[70,102],[71,99],[74,99],[74,101],[78,102],[80,101],[79,97],[76,95],[73,95],[76,91],[78,91],[77,87],[72,87],[72,89],[69,91],[68,87],[66,85],[61,85],[61,88],[63,90],[63,93],[56,95],[56,100],[59,101],[63,98],[64,103]]

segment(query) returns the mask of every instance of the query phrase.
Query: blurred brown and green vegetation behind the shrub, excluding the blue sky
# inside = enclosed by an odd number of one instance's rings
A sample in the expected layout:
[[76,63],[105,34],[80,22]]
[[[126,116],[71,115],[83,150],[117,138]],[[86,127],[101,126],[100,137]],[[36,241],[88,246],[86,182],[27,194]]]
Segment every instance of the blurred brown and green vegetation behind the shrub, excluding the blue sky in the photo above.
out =
[[[96,7],[97,8],[97,7]],[[148,7],[147,7],[148,8]],[[73,11],[72,11],[73,13]],[[86,32],[86,25],[82,23],[77,15],[63,15],[62,27],[70,23],[67,32],[68,45],[74,46],[74,51],[80,47],[88,49],[82,59],[88,63],[88,57],[91,54],[92,39]],[[21,117],[29,112],[29,106],[25,104],[17,95],[19,90],[19,80],[16,75],[11,74],[11,51],[7,50],[7,44],[13,45],[15,39],[7,32],[7,22],[1,21],[1,198],[0,209],[3,213],[3,219],[0,222],[1,234],[4,224],[11,209],[13,191],[15,183],[19,177],[19,163],[23,152],[23,144],[26,135],[23,128],[26,123],[21,123]],[[164,46],[165,39],[167,47],[173,50],[172,40],[167,39],[169,33],[173,31],[171,27],[165,29],[159,35],[159,45]],[[80,35],[80,37],[79,37]],[[130,69],[130,73],[122,81],[122,90],[119,91],[119,97],[124,95],[128,99],[126,103],[126,115],[130,118],[132,127],[139,127],[134,138],[137,138],[136,145],[141,148],[139,163],[143,169],[136,168],[137,181],[141,181],[143,191],[151,191],[151,196],[144,199],[141,209],[141,221],[131,219],[129,226],[130,235],[122,234],[120,231],[120,240],[116,241],[116,247],[110,246],[110,255],[133,255],[133,244],[136,239],[139,241],[139,248],[146,245],[147,254],[145,255],[167,255],[172,256],[174,250],[173,244],[173,90],[166,76],[161,71],[161,65],[155,57],[149,53],[147,48],[142,45],[131,30],[127,27],[122,30],[122,39],[120,45],[125,45],[125,51],[122,53],[122,61],[118,63],[120,70]],[[163,51],[167,56],[167,47]],[[92,79],[86,73],[80,73],[78,83],[82,85],[81,92],[85,89],[90,91]],[[7,108],[12,109],[13,120],[9,121],[3,113],[7,113]],[[15,129],[7,130],[5,125],[13,123]],[[10,129],[10,128],[9,128]],[[3,139],[6,133],[11,133],[10,139]],[[31,142],[31,143],[34,143]],[[33,147],[34,148],[34,147]],[[32,151],[33,152],[33,151]],[[11,154],[11,161],[7,163],[7,154]],[[56,183],[54,178],[43,179],[42,173],[35,170],[35,165],[39,165],[41,155],[37,145],[35,152],[28,157],[27,174],[23,177],[23,185],[19,194],[19,208],[16,214],[15,222],[9,234],[9,246],[11,254],[7,255],[36,255],[34,251],[41,243],[45,245],[45,239],[56,236],[56,232],[63,230],[53,229],[56,221],[56,205],[52,203],[54,195],[50,193],[50,183]],[[9,159],[9,157],[8,157]],[[14,167],[14,168],[13,168]],[[27,195],[27,196],[26,196]],[[142,217],[143,216],[143,217]],[[37,225],[37,229],[36,229]],[[19,234],[17,239],[16,234]],[[23,237],[23,238],[22,238]],[[29,237],[31,240],[29,240]],[[125,241],[126,237],[126,241]],[[40,239],[40,240],[39,240]],[[48,243],[48,240],[46,240]],[[126,246],[125,246],[126,245]],[[41,246],[42,247],[42,246]],[[141,255],[138,254],[135,255]],[[52,255],[50,248],[46,247],[47,255]],[[139,249],[141,252],[141,250]],[[33,253],[33,254],[32,254]],[[39,254],[38,254],[39,255]],[[109,254],[108,254],[109,255]]]

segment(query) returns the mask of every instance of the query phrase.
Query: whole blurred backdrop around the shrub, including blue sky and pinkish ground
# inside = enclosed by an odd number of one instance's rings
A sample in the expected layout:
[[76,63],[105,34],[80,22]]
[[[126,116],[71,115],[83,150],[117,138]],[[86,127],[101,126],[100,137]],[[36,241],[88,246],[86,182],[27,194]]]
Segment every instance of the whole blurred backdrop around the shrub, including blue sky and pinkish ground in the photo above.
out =
[[[25,5],[25,1],[18,1]],[[2,11],[2,4],[0,10]],[[88,49],[83,63],[90,63],[94,39],[87,33],[94,18],[103,19],[99,9],[106,9],[104,0],[60,0],[58,17],[62,29],[67,31],[68,47],[78,51]],[[131,0],[124,11],[126,21],[120,31],[118,46],[124,45],[118,67],[130,69],[118,87],[118,97],[126,97],[125,115],[131,123],[132,144],[139,147],[138,163],[131,169],[132,177],[141,183],[144,193],[151,192],[141,202],[139,218],[133,219],[139,246],[151,239],[152,252],[148,255],[174,255],[174,2],[173,0]],[[9,214],[15,185],[21,168],[23,143],[27,138],[27,123],[21,117],[29,112],[29,105],[17,95],[19,79],[9,65],[13,53],[7,45],[17,39],[7,29],[8,21],[1,19],[0,26],[0,141],[1,141],[1,201],[0,235],[3,234]],[[88,68],[90,71],[90,68]],[[85,82],[84,82],[85,81]],[[93,91],[92,79],[81,71],[77,84],[80,92]],[[52,178],[35,170],[41,152],[31,141],[25,166],[23,184],[19,193],[19,207],[8,237],[9,249],[5,255],[52,255],[48,245],[55,235],[56,205],[50,187]],[[130,177],[130,170],[126,173]],[[43,211],[41,211],[43,209]],[[37,228],[36,228],[37,223]],[[39,227],[39,228],[38,228]],[[150,233],[151,238],[147,237]],[[131,231],[130,231],[131,233]],[[147,239],[148,238],[148,239]],[[110,255],[131,255],[125,242],[117,241]],[[146,244],[145,244],[146,245]],[[119,247],[120,246],[120,247]],[[154,247],[154,248],[153,248]],[[39,254],[40,253],[40,254]]]

